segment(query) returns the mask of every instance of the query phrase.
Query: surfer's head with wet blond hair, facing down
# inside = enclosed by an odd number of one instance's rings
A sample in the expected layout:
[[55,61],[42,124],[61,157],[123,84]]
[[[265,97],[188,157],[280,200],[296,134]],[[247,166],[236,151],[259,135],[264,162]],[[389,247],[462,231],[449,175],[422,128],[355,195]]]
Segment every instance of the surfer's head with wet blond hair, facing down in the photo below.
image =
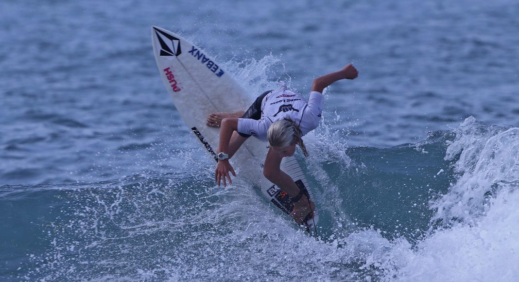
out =
[[305,157],[308,157],[302,132],[290,119],[277,120],[267,131],[267,140],[274,151],[281,157],[294,155],[295,145],[299,145]]

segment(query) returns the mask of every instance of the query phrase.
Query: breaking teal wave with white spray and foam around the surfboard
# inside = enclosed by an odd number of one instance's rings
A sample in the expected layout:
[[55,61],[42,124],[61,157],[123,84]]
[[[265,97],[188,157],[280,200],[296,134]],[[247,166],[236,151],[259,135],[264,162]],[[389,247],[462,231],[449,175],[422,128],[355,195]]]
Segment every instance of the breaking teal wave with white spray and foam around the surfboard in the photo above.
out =
[[[279,60],[227,63],[250,93]],[[286,77],[285,77],[286,78]],[[287,79],[287,81],[290,81]],[[253,95],[251,94],[251,99]],[[40,280],[514,280],[519,273],[517,128],[470,117],[416,144],[347,146],[336,114],[298,153],[322,211],[315,237],[239,177],[215,187],[201,149],[190,172],[84,184],[4,186],[12,204],[41,203],[42,242],[16,279]],[[16,195],[16,197],[15,197]],[[40,236],[41,237],[41,236]]]

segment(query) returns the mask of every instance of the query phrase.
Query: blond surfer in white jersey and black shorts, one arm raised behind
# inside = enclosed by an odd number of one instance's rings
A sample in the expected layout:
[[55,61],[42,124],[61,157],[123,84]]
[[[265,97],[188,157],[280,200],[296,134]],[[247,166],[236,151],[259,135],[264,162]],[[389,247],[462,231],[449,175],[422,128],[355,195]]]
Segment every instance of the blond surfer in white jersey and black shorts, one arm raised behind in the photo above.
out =
[[354,79],[357,69],[350,63],[343,69],[323,75],[313,80],[308,101],[299,93],[290,90],[281,82],[281,88],[269,90],[260,95],[250,108],[243,112],[213,113],[207,119],[207,125],[221,127],[218,145],[218,164],[215,180],[220,186],[233,183],[230,173],[236,177],[234,168],[229,163],[239,147],[254,136],[269,143],[263,174],[283,192],[293,203],[290,216],[297,224],[302,224],[313,216],[315,204],[303,194],[292,178],[280,169],[283,157],[292,156],[295,146],[301,147],[308,157],[302,137],[316,129],[321,120],[324,88],[340,79]]

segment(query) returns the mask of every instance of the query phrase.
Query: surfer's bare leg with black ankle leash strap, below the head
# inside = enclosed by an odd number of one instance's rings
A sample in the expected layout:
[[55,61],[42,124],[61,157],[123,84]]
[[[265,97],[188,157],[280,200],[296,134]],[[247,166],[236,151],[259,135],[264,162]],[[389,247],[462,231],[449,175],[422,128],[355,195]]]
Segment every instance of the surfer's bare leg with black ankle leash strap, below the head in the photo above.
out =
[[[263,167],[264,176],[272,183],[278,185],[284,192],[288,193],[290,197],[294,198],[299,195],[301,189],[297,187],[294,180],[281,170],[281,157],[272,148],[268,150],[265,165]],[[309,205],[310,204],[310,205]],[[316,205],[312,200],[303,195],[296,203],[294,203],[294,210],[290,216],[297,224],[303,223],[303,220],[316,209]]]

